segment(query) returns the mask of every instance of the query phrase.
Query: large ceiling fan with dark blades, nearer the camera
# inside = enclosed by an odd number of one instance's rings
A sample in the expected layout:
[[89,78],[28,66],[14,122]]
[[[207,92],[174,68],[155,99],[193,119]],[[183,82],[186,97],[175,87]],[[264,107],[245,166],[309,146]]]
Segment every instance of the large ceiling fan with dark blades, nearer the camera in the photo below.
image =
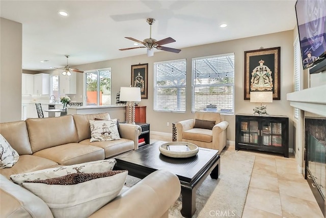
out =
[[161,46],[164,44],[168,44],[171,42],[175,42],[175,40],[171,37],[165,38],[165,39],[161,39],[159,41],[157,41],[156,39],[152,38],[152,24],[155,22],[154,18],[147,18],[146,19],[150,29],[149,29],[149,38],[148,39],[144,39],[144,41],[140,41],[131,37],[125,37],[127,39],[130,39],[132,41],[138,42],[140,44],[143,44],[144,46],[139,46],[139,47],[128,47],[126,49],[119,49],[120,51],[125,51],[125,50],[131,50],[131,49],[139,49],[142,47],[146,47],[147,48],[147,56],[153,56],[154,55],[154,49],[158,49],[158,50],[163,50],[163,51],[167,51],[167,52],[174,52],[174,53],[179,53],[181,52],[180,49],[173,49],[172,47],[165,47],[165,46]]

